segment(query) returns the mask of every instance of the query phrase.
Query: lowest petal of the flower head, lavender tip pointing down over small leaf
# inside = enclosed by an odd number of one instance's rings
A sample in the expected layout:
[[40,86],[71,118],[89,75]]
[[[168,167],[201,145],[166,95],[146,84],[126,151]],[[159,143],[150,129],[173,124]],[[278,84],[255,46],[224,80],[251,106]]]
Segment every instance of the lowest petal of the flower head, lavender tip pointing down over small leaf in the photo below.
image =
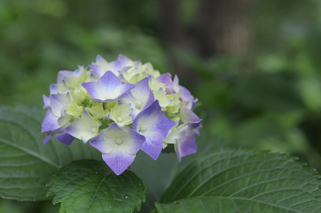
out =
[[116,175],[122,174],[134,161],[135,157],[135,154],[128,154],[122,144],[115,144],[114,149],[108,154],[102,153],[102,159],[115,172]]

